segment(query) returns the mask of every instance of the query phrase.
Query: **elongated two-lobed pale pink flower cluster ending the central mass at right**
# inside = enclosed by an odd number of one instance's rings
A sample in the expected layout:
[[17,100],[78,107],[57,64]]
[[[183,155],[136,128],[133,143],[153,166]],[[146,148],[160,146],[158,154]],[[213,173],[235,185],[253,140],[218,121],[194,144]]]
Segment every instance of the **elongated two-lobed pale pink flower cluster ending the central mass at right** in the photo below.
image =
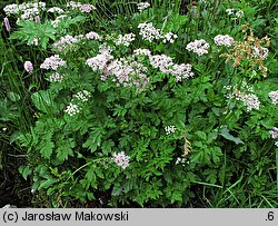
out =
[[175,76],[176,81],[193,77],[191,65],[189,63],[173,63],[172,59],[166,55],[150,56],[149,59],[153,68],[158,68],[161,72]]

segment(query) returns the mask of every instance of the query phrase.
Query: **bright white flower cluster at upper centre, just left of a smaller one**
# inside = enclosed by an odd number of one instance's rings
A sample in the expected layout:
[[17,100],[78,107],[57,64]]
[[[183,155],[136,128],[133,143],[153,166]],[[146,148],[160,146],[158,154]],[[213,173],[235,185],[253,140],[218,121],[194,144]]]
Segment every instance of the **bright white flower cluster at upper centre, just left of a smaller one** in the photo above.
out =
[[139,35],[142,36],[143,40],[152,42],[162,38],[160,29],[155,28],[152,22],[139,23],[138,28],[140,29]]

